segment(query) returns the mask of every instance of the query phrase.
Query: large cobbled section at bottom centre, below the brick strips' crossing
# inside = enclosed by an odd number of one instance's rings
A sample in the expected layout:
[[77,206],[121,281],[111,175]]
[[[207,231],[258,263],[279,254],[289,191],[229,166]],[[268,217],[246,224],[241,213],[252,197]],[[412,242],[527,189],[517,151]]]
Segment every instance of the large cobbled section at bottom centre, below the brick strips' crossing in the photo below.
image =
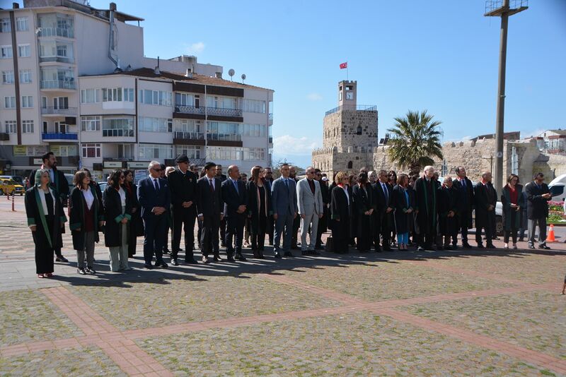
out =
[[498,352],[370,313],[137,340],[176,376],[538,376]]

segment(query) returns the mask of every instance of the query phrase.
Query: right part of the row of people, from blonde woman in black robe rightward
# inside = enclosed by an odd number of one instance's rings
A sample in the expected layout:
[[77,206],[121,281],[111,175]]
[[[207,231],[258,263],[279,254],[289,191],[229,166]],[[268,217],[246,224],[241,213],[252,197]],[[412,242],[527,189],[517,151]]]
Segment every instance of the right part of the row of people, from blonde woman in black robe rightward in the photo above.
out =
[[376,174],[366,168],[357,175],[337,172],[330,186],[332,249],[346,253],[351,245],[362,252],[371,247],[375,251],[391,251],[395,235],[399,250],[408,250],[412,244],[418,251],[455,249],[458,234],[461,245],[471,249],[468,229],[473,227],[478,249],[495,249],[492,239],[498,198],[502,203],[504,249],[517,249],[518,232],[519,241],[523,241],[525,229],[529,248],[535,249],[536,227],[538,247],[550,249],[545,239],[552,195],[542,173],[535,174],[525,187],[519,184],[519,176],[510,174],[499,197],[490,172],[483,172],[476,184],[468,179],[464,167],[457,167],[455,173],[456,176],[444,176],[439,181],[432,166],[424,167],[424,174],[418,177],[397,176],[396,172],[385,170]]

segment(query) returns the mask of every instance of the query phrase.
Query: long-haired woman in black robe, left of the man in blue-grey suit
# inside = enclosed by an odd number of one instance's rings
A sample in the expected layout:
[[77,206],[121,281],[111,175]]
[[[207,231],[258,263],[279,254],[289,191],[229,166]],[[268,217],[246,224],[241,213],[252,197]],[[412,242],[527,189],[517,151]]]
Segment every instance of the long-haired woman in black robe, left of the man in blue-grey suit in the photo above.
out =
[[262,178],[262,168],[255,166],[251,170],[246,185],[248,190],[248,218],[254,258],[263,258],[267,219],[273,214],[271,208],[271,192]]

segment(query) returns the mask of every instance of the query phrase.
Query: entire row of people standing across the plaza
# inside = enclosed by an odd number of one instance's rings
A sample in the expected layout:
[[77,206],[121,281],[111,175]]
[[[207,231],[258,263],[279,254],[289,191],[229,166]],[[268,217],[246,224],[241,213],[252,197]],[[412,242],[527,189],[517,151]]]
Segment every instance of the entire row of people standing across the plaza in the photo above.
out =
[[[228,175],[221,165],[207,162],[200,172],[186,155],[175,160],[176,167],[149,163],[148,176],[134,183],[134,173],[117,169],[108,176],[104,192],[93,181],[88,169],[74,174],[73,188],[57,170],[52,152],[42,156],[40,169],[30,174],[25,210],[33,240],[37,275],[50,277],[55,261],[68,262],[61,253],[62,233],[69,206],[69,229],[77,253],[77,272],[94,274],[94,249],[104,234],[110,270],[131,270],[128,258],[136,253],[137,237],[144,237],[144,267],[168,268],[163,254],[171,254],[171,264],[179,265],[181,234],[184,232],[185,263],[195,259],[195,224],[202,263],[220,262],[220,248],[228,261],[246,261],[242,249],[251,247],[254,258],[264,258],[265,237],[273,246],[275,258],[292,257],[292,249],[302,255],[320,255],[326,249],[347,253],[349,246],[366,252],[399,250],[417,244],[419,250],[456,247],[458,233],[463,247],[475,209],[475,239],[483,248],[493,248],[497,193],[490,172],[478,184],[458,167],[454,179],[439,182],[433,167],[425,167],[417,179],[407,174],[380,171],[359,174],[337,172],[329,186],[320,169],[308,167],[306,177],[298,179],[295,167],[282,164],[281,176],[273,179],[270,167],[255,166],[250,176],[231,165]],[[538,244],[545,245],[545,219],[550,200],[543,174],[536,174],[525,189],[512,174],[503,188],[504,247],[516,249],[518,229],[528,223],[529,246],[534,248],[535,227]],[[322,244],[322,234],[330,228],[332,237]],[[171,251],[168,233],[171,229]],[[248,239],[250,241],[248,241]]]

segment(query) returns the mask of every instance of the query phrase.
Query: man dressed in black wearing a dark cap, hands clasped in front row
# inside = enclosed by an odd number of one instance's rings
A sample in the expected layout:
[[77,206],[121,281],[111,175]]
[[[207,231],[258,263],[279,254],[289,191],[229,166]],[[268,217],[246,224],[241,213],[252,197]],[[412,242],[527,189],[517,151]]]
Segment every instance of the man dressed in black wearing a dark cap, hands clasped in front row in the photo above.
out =
[[187,155],[177,157],[177,169],[168,176],[173,203],[173,241],[171,244],[171,263],[177,261],[181,228],[185,231],[185,263],[197,263],[193,254],[195,249],[195,220],[197,219],[197,176],[189,170]]

